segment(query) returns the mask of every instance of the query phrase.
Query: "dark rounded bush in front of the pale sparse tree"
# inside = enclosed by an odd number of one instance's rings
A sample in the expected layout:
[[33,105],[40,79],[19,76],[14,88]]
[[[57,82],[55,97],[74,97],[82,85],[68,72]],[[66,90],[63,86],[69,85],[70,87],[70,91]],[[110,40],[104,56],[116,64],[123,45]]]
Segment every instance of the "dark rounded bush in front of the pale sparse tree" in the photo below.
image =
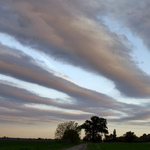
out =
[[67,130],[64,132],[63,140],[71,143],[79,143],[80,137],[76,130]]

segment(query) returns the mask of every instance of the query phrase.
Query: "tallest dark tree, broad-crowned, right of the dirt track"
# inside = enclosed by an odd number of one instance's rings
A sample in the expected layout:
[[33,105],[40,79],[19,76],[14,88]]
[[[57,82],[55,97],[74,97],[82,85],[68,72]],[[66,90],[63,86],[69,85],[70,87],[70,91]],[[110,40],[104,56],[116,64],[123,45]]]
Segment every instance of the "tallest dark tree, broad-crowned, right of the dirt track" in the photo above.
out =
[[80,128],[85,129],[84,140],[86,141],[100,142],[102,135],[108,134],[106,119],[97,116],[91,117],[91,120],[86,120]]

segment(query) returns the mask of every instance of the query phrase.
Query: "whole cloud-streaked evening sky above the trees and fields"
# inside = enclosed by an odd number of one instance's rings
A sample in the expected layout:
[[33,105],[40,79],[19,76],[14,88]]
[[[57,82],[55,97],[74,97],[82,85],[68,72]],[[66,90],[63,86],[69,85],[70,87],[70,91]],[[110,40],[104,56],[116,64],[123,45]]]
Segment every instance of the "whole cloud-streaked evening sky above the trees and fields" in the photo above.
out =
[[149,0],[0,0],[0,137],[59,123],[150,126]]

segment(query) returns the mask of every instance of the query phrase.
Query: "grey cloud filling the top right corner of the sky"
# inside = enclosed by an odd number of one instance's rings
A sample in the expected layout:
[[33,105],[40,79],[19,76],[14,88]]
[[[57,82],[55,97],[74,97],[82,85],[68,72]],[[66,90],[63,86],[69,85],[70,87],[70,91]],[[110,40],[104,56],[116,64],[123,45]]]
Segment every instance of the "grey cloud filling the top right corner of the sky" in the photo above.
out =
[[123,0],[118,3],[112,1],[110,5],[111,9],[107,10],[109,15],[121,23],[123,27],[129,28],[133,35],[138,36],[149,50],[150,2],[148,0]]

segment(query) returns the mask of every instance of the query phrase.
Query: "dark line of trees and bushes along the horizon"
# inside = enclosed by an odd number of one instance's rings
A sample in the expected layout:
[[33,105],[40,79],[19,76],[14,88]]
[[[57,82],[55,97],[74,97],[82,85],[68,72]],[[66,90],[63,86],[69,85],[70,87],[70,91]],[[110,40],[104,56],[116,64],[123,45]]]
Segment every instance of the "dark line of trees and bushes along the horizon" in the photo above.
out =
[[116,129],[109,134],[107,120],[93,116],[82,125],[75,121],[58,124],[55,131],[55,139],[65,142],[78,143],[81,138],[81,130],[84,129],[83,141],[91,142],[150,142],[150,134],[137,137],[134,132],[128,131],[123,136],[117,137]]

